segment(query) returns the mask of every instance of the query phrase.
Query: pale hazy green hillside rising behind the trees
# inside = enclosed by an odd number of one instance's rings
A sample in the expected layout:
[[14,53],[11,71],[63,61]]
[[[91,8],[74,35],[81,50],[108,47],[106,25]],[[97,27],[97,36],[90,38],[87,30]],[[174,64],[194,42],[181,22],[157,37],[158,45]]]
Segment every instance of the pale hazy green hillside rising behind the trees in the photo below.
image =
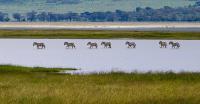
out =
[[132,11],[136,7],[184,7],[196,0],[0,0],[0,11],[6,13]]

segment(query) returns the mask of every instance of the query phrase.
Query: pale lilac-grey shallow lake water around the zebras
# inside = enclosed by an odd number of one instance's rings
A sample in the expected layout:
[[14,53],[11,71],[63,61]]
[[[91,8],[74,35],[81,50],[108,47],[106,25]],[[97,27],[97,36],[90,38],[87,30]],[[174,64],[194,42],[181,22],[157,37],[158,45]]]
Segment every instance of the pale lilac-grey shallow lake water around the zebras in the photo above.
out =
[[[76,49],[66,49],[65,41],[74,42]],[[89,49],[89,41],[97,42],[98,49]],[[112,49],[103,48],[102,41],[112,42]],[[126,41],[137,47],[128,49]],[[161,49],[159,40],[0,39],[0,64],[79,69],[70,73],[200,72],[200,41],[173,41],[181,44],[180,49]],[[37,50],[33,42],[44,42],[46,49]]]

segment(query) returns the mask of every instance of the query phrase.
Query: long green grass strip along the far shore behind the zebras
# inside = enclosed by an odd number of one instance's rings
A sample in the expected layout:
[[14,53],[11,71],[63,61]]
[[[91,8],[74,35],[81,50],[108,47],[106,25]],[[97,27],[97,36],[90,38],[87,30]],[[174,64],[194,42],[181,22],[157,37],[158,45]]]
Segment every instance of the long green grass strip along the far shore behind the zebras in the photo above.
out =
[[0,30],[0,38],[49,38],[49,39],[200,39],[198,32],[139,32],[100,30]]

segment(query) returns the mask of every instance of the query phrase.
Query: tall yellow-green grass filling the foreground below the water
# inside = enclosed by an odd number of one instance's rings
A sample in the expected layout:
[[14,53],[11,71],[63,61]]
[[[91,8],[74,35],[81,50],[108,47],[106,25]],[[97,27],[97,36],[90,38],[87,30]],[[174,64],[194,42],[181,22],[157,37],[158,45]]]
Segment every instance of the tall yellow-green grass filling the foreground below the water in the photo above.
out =
[[0,73],[2,104],[198,104],[199,73]]

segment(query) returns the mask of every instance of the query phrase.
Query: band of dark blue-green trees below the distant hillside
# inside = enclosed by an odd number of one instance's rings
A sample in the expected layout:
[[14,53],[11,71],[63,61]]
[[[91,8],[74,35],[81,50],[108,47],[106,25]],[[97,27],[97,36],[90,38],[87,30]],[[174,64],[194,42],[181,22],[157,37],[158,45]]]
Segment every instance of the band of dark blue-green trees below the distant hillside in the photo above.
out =
[[[79,1],[79,0],[77,0]],[[49,0],[54,2],[54,0]],[[74,2],[76,3],[76,2]],[[0,21],[29,21],[29,22],[59,22],[59,21],[88,21],[88,22],[117,22],[117,21],[200,21],[200,1],[195,5],[172,8],[165,6],[160,9],[137,7],[133,11],[116,10],[115,12],[84,12],[84,13],[53,13],[36,12],[8,13],[0,12]]]

